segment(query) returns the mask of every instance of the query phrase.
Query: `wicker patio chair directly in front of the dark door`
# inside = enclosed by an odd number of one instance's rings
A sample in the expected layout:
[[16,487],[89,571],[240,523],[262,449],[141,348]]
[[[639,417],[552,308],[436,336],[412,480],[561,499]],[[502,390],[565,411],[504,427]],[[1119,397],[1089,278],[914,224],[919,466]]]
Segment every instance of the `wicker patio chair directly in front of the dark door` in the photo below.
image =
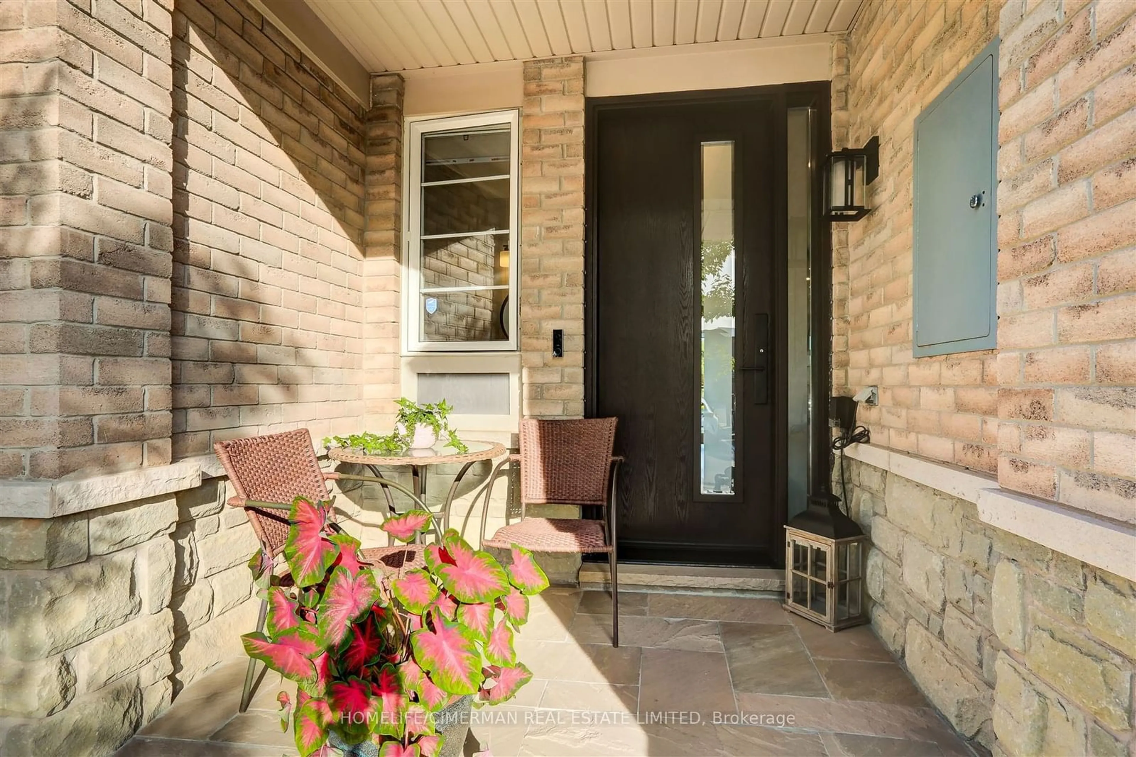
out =
[[[533,552],[605,553],[611,564],[611,646],[619,646],[619,580],[616,565],[616,478],[623,457],[612,455],[615,418],[520,421],[520,453],[498,465],[520,464],[520,520],[498,529],[482,544],[508,549],[517,544]],[[593,505],[603,520],[528,518],[528,505]]]

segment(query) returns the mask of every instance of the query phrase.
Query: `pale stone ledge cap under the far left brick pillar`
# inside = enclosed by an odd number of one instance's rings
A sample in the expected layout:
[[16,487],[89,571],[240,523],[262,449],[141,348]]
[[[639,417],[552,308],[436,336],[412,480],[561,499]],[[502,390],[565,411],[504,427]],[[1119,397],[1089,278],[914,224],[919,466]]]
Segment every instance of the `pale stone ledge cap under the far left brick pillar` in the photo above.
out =
[[61,481],[0,481],[0,518],[59,518],[201,486],[202,465],[170,465]]

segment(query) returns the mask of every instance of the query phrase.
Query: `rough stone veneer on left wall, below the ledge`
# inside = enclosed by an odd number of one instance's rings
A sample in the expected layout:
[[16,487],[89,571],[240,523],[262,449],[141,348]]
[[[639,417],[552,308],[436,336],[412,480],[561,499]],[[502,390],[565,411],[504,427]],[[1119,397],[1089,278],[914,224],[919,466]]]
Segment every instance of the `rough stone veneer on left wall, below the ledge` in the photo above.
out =
[[0,519],[0,754],[109,754],[185,683],[241,654],[257,619],[245,566],[256,537],[226,496],[212,479],[74,515]]

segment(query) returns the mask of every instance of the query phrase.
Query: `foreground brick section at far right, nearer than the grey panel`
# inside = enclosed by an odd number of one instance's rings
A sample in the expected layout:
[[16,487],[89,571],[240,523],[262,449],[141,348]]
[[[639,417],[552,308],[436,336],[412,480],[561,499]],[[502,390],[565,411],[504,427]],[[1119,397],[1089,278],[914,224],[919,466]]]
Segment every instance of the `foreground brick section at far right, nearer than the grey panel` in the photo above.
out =
[[999,480],[1136,522],[1136,5],[1001,34]]

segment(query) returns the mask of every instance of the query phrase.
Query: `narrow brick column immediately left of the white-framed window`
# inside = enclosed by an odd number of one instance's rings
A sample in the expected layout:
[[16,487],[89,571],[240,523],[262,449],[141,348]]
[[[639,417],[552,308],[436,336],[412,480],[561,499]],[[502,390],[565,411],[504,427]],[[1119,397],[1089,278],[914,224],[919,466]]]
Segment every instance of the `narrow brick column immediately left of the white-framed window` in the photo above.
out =
[[393,419],[399,381],[402,244],[402,96],[399,74],[370,79],[364,233],[364,373],[367,428]]

